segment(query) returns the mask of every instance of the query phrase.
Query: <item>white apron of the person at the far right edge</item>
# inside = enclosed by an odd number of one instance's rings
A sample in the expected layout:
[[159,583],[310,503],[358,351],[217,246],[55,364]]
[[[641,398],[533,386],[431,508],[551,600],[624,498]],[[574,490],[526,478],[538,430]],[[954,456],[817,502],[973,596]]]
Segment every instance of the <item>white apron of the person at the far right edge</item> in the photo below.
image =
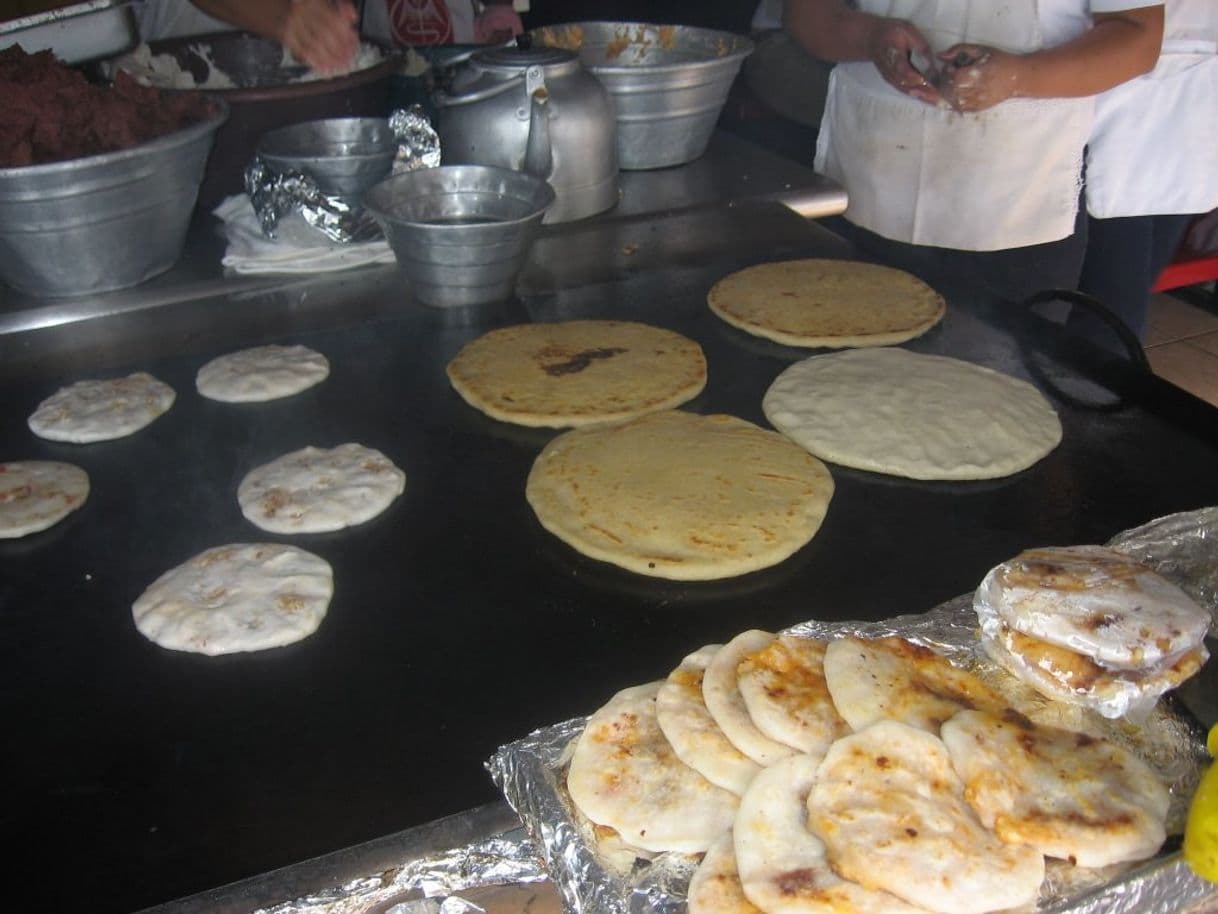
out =
[[1150,73],[1096,99],[1086,210],[1096,218],[1218,207],[1218,0],[1167,0]]

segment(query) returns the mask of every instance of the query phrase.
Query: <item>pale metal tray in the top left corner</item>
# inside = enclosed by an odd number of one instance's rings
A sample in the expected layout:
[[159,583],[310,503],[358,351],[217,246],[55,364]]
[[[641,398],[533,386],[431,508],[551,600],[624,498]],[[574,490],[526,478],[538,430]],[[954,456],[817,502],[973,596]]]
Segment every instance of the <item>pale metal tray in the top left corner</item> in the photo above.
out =
[[19,44],[27,54],[51,50],[65,63],[122,54],[139,40],[135,12],[127,0],[90,0],[0,22],[0,48]]

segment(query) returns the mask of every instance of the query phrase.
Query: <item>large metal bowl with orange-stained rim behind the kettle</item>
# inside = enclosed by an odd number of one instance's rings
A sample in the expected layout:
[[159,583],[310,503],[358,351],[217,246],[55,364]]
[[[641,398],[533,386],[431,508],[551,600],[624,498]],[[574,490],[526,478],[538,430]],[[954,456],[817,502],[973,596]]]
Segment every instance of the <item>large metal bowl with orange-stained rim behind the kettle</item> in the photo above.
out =
[[706,151],[753,41],[732,32],[639,22],[575,22],[533,29],[536,44],[577,51],[618,110],[618,165],[685,165]]

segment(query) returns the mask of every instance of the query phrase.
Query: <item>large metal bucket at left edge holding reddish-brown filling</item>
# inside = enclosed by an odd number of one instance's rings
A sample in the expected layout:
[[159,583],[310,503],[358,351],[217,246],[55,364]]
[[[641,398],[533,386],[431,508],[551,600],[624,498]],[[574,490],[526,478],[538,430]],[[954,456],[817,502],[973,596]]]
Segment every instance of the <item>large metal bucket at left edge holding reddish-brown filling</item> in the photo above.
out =
[[35,296],[125,289],[181,255],[228,106],[139,146],[0,168],[0,280]]

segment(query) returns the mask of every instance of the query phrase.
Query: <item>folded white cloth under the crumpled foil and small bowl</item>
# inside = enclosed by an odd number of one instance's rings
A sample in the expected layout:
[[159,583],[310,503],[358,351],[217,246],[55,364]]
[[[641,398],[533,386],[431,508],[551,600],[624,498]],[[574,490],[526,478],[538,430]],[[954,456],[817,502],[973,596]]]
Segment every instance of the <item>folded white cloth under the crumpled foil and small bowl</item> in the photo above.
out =
[[354,244],[331,241],[298,212],[280,219],[276,236],[267,238],[245,194],[227,197],[212,213],[224,223],[228,239],[220,262],[235,273],[326,273],[393,262],[393,251],[384,239]]

